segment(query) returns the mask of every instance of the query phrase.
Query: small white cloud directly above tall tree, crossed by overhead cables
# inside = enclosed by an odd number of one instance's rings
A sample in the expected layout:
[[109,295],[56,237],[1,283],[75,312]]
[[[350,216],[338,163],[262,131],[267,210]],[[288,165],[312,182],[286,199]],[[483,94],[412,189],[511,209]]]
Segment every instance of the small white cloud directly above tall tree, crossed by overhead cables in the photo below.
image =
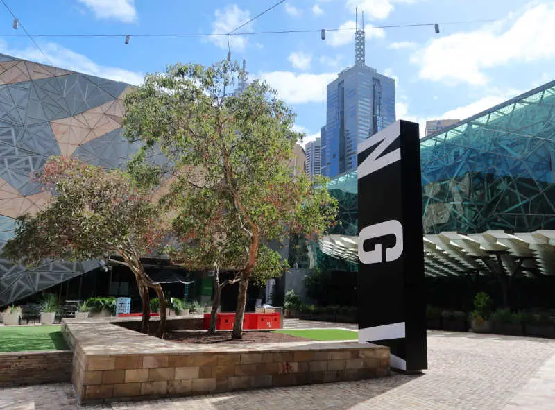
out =
[[[225,6],[225,8],[217,9],[214,12],[216,19],[212,23],[212,34],[216,33],[229,33],[250,20],[250,11],[241,10],[237,4]],[[250,32],[253,28],[250,24],[241,27],[241,31]],[[210,41],[218,46],[220,49],[228,49],[228,37],[225,35],[218,35],[209,37]],[[247,39],[242,35],[230,35],[230,46],[237,51],[243,51],[247,45]]]

